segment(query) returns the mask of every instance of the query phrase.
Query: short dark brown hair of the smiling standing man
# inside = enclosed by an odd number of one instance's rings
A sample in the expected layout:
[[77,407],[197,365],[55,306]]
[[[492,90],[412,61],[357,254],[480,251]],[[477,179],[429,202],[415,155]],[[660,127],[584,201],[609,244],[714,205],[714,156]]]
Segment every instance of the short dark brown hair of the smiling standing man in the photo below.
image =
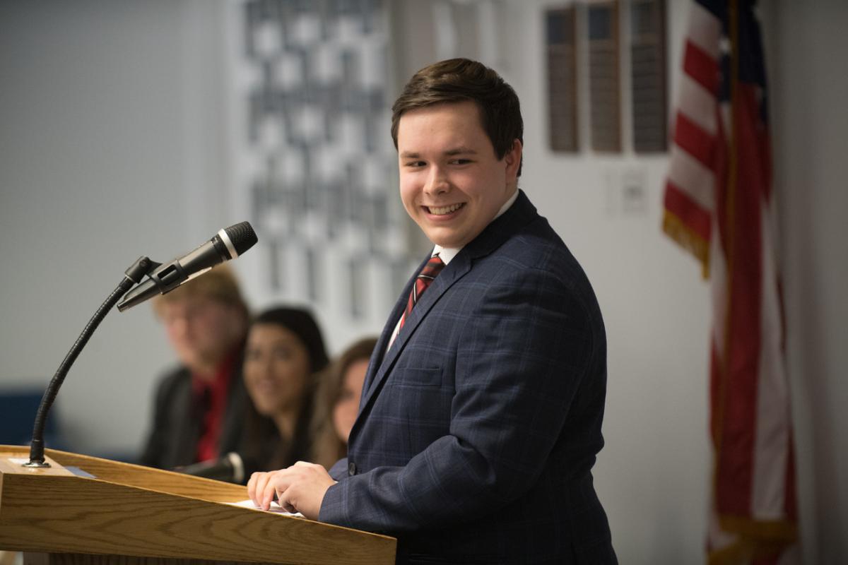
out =
[[[404,112],[434,104],[471,101],[494,154],[502,159],[517,139],[524,143],[524,121],[518,95],[498,73],[467,58],[440,61],[419,70],[392,106],[392,140],[398,147],[398,126]],[[523,159],[522,159],[523,160]],[[522,174],[521,165],[518,174]]]

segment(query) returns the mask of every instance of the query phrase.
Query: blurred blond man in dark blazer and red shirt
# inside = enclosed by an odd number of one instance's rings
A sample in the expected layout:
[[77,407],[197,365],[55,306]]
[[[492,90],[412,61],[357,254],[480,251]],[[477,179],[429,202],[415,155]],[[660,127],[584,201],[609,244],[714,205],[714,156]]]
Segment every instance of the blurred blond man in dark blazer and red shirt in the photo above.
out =
[[242,358],[248,307],[219,265],[153,300],[179,366],[160,380],[139,463],[176,468],[237,451],[248,403]]

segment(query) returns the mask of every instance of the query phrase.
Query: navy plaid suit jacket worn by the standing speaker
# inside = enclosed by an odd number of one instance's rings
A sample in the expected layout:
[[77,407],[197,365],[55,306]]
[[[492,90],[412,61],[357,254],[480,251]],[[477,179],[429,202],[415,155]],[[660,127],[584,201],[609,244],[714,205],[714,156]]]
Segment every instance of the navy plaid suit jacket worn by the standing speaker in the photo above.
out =
[[560,237],[520,193],[385,352],[411,284],[371,357],[321,521],[397,535],[398,562],[616,562],[591,474],[604,324]]

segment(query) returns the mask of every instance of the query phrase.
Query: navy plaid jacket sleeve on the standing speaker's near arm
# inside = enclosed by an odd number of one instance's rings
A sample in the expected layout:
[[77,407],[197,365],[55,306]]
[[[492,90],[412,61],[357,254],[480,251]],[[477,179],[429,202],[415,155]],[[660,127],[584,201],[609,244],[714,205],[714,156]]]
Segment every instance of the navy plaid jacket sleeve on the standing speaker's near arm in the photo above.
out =
[[508,507],[553,464],[577,388],[605,351],[594,295],[537,269],[479,291],[463,302],[449,434],[403,467],[332,485],[321,521],[372,531],[444,527]]

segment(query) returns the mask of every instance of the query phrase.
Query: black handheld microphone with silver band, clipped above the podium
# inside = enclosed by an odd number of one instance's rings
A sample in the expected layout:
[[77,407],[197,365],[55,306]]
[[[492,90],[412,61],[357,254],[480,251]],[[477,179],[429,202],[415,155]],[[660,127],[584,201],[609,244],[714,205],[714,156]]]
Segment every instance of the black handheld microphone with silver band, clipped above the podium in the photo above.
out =
[[148,275],[148,280],[126,293],[124,300],[118,304],[118,310],[123,312],[157,294],[173,291],[177,286],[204,274],[218,263],[237,258],[254,246],[256,241],[258,240],[254,229],[248,222],[220,230],[202,246],[155,269]]

